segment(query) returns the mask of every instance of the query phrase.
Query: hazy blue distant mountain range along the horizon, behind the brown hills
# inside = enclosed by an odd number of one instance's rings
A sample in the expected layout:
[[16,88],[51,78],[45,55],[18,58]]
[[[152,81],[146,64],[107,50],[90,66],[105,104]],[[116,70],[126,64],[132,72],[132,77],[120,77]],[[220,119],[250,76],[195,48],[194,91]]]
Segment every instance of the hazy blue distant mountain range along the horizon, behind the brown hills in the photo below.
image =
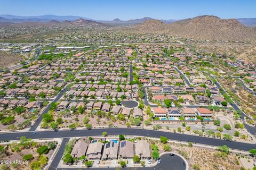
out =
[[[149,20],[155,20],[150,17],[145,17],[141,19],[132,19],[132,20],[120,20],[120,19],[114,19],[112,21],[103,21],[103,20],[93,20],[89,18],[85,18],[82,16],[73,16],[73,15],[66,15],[66,16],[58,16],[58,15],[39,15],[39,16],[18,16],[18,15],[0,15],[0,22],[4,22],[1,24],[10,24],[10,23],[23,23],[23,22],[50,22],[52,20],[55,21],[76,21],[78,19],[84,19],[84,20],[91,20],[91,21],[97,21],[101,23],[107,23],[111,25],[133,25],[133,24],[140,24],[145,21]],[[189,20],[189,19],[188,19]],[[256,27],[256,18],[239,18],[236,19],[240,23],[246,25],[247,27]],[[160,20],[164,23],[172,23],[179,20]]]

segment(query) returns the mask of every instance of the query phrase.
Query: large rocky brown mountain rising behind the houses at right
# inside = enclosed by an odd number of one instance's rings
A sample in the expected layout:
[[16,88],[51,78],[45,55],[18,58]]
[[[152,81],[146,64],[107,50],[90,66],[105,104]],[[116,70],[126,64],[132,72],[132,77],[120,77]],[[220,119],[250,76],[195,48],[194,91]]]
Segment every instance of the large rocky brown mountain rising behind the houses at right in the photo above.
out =
[[256,29],[249,28],[235,19],[220,19],[216,16],[197,16],[193,19],[165,24],[159,20],[145,21],[134,25],[139,32],[170,33],[173,36],[209,40],[255,41]]

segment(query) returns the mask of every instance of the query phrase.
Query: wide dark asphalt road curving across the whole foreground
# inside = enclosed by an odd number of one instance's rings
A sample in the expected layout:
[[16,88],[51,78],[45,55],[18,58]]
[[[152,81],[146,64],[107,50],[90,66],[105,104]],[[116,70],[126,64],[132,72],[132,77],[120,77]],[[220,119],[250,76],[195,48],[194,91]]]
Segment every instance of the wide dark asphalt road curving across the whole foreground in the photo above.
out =
[[108,135],[139,135],[146,137],[159,138],[161,136],[167,137],[170,140],[184,141],[184,142],[195,142],[203,145],[211,146],[222,146],[227,145],[230,148],[248,151],[252,148],[256,148],[256,144],[242,143],[235,141],[226,141],[216,138],[199,137],[196,135],[188,135],[181,133],[172,133],[166,131],[155,131],[147,129],[137,128],[102,128],[92,130],[63,130],[63,131],[37,131],[36,134],[33,132],[12,132],[12,133],[1,133],[0,139],[4,140],[17,140],[22,136],[32,139],[45,139],[45,138],[70,138],[70,137],[90,137],[102,135],[102,132],[106,131]]

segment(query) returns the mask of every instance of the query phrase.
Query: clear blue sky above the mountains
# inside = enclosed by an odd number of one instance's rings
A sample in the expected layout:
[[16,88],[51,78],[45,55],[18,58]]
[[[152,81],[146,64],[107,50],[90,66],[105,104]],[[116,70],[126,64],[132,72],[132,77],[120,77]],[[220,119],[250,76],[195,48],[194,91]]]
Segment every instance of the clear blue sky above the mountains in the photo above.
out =
[[198,15],[256,18],[256,0],[0,0],[0,14],[79,15],[95,20],[185,19]]

